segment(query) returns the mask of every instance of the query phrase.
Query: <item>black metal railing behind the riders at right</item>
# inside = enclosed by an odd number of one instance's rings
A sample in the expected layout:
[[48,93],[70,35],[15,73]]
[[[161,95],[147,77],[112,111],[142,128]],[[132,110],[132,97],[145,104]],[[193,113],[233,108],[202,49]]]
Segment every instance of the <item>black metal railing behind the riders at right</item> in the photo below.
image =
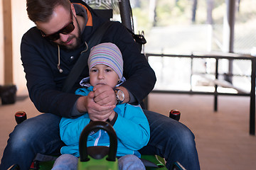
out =
[[[255,74],[256,74],[256,57],[252,57],[251,55],[237,55],[233,53],[228,53],[225,55],[164,55],[164,54],[146,54],[146,59],[149,57],[180,57],[180,58],[191,58],[191,70],[193,67],[193,59],[194,58],[213,58],[215,59],[215,79],[218,79],[218,60],[226,59],[226,60],[250,60],[252,64],[252,72],[251,72],[251,90],[250,93],[220,93],[217,91],[218,84],[215,84],[215,91],[171,91],[171,90],[153,90],[151,93],[164,93],[164,94],[206,94],[214,96],[214,111],[218,109],[218,96],[226,95],[226,96],[250,96],[250,135],[255,135]],[[193,72],[191,72],[193,74]],[[206,73],[207,74],[207,73]],[[147,105],[147,101],[145,102]]]

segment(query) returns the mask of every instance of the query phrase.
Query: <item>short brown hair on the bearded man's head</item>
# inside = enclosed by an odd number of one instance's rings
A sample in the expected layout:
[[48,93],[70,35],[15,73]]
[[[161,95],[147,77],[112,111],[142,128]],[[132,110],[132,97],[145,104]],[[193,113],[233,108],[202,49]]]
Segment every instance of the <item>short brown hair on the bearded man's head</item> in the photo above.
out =
[[28,18],[34,23],[36,21],[47,22],[53,14],[54,8],[59,5],[70,10],[69,0],[27,0]]

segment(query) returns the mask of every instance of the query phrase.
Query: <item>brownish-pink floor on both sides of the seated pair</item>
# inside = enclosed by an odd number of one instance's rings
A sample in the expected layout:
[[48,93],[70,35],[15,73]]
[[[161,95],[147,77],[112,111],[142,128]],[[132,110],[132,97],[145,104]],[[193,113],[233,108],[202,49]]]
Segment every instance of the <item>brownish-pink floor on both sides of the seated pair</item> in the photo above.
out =
[[[249,97],[220,96],[218,112],[213,111],[213,96],[150,94],[149,110],[168,115],[181,111],[181,123],[196,136],[201,169],[255,169],[256,137],[249,135]],[[16,122],[14,113],[26,111],[28,118],[40,113],[26,96],[15,104],[0,105],[0,157]]]

